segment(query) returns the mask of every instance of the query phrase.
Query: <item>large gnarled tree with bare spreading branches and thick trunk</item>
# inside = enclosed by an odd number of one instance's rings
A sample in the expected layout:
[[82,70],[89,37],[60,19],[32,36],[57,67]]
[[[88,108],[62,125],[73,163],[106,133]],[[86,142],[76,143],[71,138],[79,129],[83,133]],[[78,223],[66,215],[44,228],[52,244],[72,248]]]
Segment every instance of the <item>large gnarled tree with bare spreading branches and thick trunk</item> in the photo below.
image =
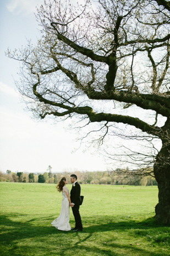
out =
[[46,1],[37,9],[37,45],[29,41],[25,49],[9,51],[23,63],[19,91],[42,119],[75,115],[106,132],[122,123],[124,130],[133,126],[161,140],[153,169],[156,217],[164,223],[170,222],[169,11],[165,0],[98,0],[76,7]]

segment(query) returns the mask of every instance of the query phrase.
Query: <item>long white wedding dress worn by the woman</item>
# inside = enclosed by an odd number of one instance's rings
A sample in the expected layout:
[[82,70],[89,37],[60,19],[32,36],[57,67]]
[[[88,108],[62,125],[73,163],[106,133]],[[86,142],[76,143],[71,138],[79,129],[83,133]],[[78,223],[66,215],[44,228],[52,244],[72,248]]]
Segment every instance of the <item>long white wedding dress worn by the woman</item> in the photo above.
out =
[[71,226],[69,223],[70,203],[68,201],[68,198],[67,198],[67,195],[65,192],[69,193],[67,186],[63,186],[63,190],[62,190],[63,200],[62,200],[61,213],[60,213],[59,217],[56,218],[56,220],[54,220],[51,224],[53,227],[56,227],[59,230],[70,231],[71,230]]

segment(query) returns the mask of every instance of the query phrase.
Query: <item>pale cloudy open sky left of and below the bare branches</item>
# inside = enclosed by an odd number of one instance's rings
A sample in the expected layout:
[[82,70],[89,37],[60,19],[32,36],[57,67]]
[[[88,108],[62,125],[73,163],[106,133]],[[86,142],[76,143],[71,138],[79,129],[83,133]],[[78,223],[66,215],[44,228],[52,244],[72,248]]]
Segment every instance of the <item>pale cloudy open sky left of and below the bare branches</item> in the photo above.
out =
[[0,171],[44,172],[48,165],[53,172],[62,170],[106,170],[101,155],[94,155],[94,149],[83,153],[77,134],[65,130],[66,124],[54,125],[52,121],[37,122],[31,113],[23,110],[16,91],[14,79],[18,79],[19,63],[4,56],[4,51],[20,48],[26,38],[39,37],[34,16],[36,4],[41,0],[2,0],[1,47],[0,47]]

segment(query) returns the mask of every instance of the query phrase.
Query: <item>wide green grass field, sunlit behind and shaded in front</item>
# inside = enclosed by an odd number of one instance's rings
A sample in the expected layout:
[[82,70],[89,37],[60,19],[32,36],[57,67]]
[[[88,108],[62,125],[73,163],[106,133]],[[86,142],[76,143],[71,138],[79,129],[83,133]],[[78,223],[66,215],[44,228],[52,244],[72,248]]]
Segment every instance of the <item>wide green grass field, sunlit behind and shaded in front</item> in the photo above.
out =
[[51,226],[62,202],[54,184],[0,182],[0,192],[3,256],[170,255],[170,227],[153,218],[156,186],[81,185],[81,233]]

